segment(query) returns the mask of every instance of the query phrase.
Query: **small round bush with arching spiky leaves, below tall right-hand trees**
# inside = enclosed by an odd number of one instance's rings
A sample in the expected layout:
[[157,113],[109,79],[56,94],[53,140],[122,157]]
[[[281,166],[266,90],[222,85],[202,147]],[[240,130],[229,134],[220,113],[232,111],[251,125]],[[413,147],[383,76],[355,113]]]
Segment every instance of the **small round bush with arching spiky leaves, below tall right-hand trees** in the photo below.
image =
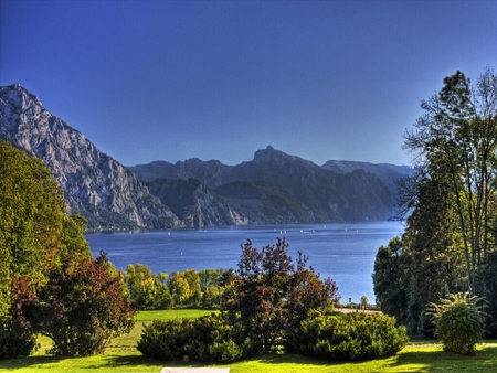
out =
[[477,307],[482,300],[476,296],[468,297],[467,292],[458,292],[441,299],[441,305],[430,303],[435,335],[444,344],[445,351],[461,354],[475,352],[483,333],[483,313]]

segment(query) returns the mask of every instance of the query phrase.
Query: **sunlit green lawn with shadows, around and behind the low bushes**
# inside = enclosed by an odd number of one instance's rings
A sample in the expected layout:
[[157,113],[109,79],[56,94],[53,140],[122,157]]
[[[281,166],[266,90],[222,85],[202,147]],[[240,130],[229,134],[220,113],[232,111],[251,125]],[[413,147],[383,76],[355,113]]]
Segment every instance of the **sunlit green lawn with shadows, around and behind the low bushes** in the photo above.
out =
[[[136,350],[144,323],[154,319],[170,320],[209,315],[202,310],[144,311],[138,313],[137,322],[129,334],[116,338],[104,355],[88,358],[61,358],[45,354],[50,340],[40,338],[41,348],[31,356],[0,361],[0,372],[86,372],[121,373],[155,372],[170,366],[205,366],[191,363],[166,362],[144,358]],[[263,355],[229,365],[210,365],[230,367],[230,373],[325,373],[325,372],[489,372],[497,366],[497,341],[478,344],[474,356],[459,356],[442,351],[442,347],[432,342],[411,342],[398,355],[367,362],[330,362],[299,355]]]

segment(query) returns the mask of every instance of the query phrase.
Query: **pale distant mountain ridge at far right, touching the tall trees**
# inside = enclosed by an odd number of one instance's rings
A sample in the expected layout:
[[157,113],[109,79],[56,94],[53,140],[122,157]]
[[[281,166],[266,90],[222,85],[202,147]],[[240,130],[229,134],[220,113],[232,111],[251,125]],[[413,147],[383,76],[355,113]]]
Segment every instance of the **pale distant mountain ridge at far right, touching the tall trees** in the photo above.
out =
[[390,192],[393,195],[398,194],[395,181],[405,175],[412,175],[414,173],[414,169],[409,166],[395,166],[390,163],[376,164],[353,161],[330,160],[322,164],[322,168],[337,173],[349,173],[355,170],[364,170],[369,173],[373,173],[384,182],[384,184],[389,188]]

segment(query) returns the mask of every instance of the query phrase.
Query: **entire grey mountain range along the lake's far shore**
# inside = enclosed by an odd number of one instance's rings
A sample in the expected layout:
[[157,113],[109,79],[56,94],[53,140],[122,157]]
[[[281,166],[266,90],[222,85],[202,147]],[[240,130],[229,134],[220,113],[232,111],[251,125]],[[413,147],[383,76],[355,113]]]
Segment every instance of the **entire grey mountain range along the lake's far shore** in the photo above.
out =
[[[225,166],[193,158],[130,167],[101,152],[19,84],[0,87],[0,138],[42,159],[91,230],[379,221],[411,169],[328,161],[271,146]],[[131,172],[133,171],[133,172]]]

